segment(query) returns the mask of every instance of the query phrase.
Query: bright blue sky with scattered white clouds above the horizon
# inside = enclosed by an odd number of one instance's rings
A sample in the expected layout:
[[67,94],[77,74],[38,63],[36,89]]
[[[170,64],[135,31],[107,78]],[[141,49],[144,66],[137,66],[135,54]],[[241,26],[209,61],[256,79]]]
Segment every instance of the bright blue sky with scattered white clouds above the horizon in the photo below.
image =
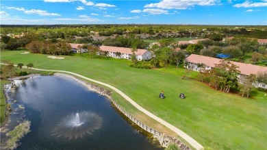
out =
[[1,0],[1,25],[267,25],[267,0]]

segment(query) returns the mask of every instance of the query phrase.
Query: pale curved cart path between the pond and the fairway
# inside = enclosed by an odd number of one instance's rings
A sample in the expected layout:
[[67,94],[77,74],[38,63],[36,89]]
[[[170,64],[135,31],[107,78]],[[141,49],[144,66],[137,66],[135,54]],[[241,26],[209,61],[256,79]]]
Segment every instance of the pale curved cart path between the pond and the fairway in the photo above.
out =
[[[16,65],[14,65],[14,66],[16,66]],[[25,66],[23,66],[23,67],[26,68]],[[196,140],[194,140],[193,138],[188,136],[186,133],[182,132],[177,127],[175,127],[173,125],[170,125],[170,123],[167,123],[162,118],[159,118],[158,116],[155,116],[155,114],[152,114],[151,112],[145,110],[140,105],[138,105],[138,103],[133,101],[130,97],[125,95],[123,92],[121,92],[120,90],[118,90],[118,88],[115,88],[114,86],[110,86],[109,84],[105,84],[103,82],[99,82],[97,80],[90,79],[88,77],[84,77],[82,75],[79,75],[77,73],[72,73],[72,72],[69,72],[69,71],[55,71],[55,70],[46,70],[46,69],[40,69],[40,68],[31,68],[31,69],[38,70],[38,71],[53,71],[53,72],[60,72],[60,73],[68,73],[68,74],[76,75],[77,77],[81,77],[83,79],[89,80],[90,82],[94,82],[94,83],[106,86],[108,88],[111,88],[112,90],[118,92],[118,94],[121,95],[122,97],[124,97],[127,101],[129,101],[129,103],[131,103],[134,107],[138,108],[138,110],[140,110],[141,112],[144,112],[144,114],[147,114],[147,116],[150,116],[151,118],[155,119],[156,121],[162,123],[162,125],[165,125],[169,129],[173,130],[173,132],[177,133],[179,136],[181,136],[181,138],[186,140],[192,147],[194,147],[194,149],[204,149],[204,147],[202,145],[200,145],[199,142],[196,142]]]

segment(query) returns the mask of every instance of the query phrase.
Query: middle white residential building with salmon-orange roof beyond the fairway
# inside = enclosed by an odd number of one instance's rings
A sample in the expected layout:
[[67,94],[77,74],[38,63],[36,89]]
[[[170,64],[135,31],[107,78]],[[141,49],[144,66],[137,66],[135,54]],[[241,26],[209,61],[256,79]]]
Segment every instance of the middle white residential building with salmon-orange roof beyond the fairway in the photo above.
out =
[[[110,46],[101,46],[99,47],[101,51],[107,51],[107,56],[110,56],[112,58],[124,58],[127,60],[131,60],[131,48],[125,48],[125,47],[110,47]],[[152,58],[152,53],[150,51],[147,51],[147,49],[137,49],[136,51],[136,59],[138,61],[141,60],[150,60]],[[120,55],[116,55],[116,53],[119,52]]]

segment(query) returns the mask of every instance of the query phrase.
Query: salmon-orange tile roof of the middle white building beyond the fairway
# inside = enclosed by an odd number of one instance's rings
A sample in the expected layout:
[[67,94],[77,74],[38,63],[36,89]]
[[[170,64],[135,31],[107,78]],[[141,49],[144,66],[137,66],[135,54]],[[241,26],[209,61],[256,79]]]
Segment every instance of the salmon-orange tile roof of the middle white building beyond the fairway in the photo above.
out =
[[[101,46],[100,47],[101,51],[109,51],[109,52],[120,52],[120,53],[126,53],[126,54],[131,54],[131,48],[125,48],[125,47],[110,47],[110,46]],[[136,55],[143,55],[147,49],[138,49],[136,51]]]

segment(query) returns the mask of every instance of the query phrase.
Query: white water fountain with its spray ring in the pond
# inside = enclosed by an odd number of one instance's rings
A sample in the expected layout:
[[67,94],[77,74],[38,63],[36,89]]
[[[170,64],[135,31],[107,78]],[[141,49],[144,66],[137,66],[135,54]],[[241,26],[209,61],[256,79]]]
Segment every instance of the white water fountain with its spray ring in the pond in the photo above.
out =
[[83,111],[73,113],[63,118],[51,135],[71,139],[83,138],[86,134],[92,134],[101,128],[103,119],[94,112]]

